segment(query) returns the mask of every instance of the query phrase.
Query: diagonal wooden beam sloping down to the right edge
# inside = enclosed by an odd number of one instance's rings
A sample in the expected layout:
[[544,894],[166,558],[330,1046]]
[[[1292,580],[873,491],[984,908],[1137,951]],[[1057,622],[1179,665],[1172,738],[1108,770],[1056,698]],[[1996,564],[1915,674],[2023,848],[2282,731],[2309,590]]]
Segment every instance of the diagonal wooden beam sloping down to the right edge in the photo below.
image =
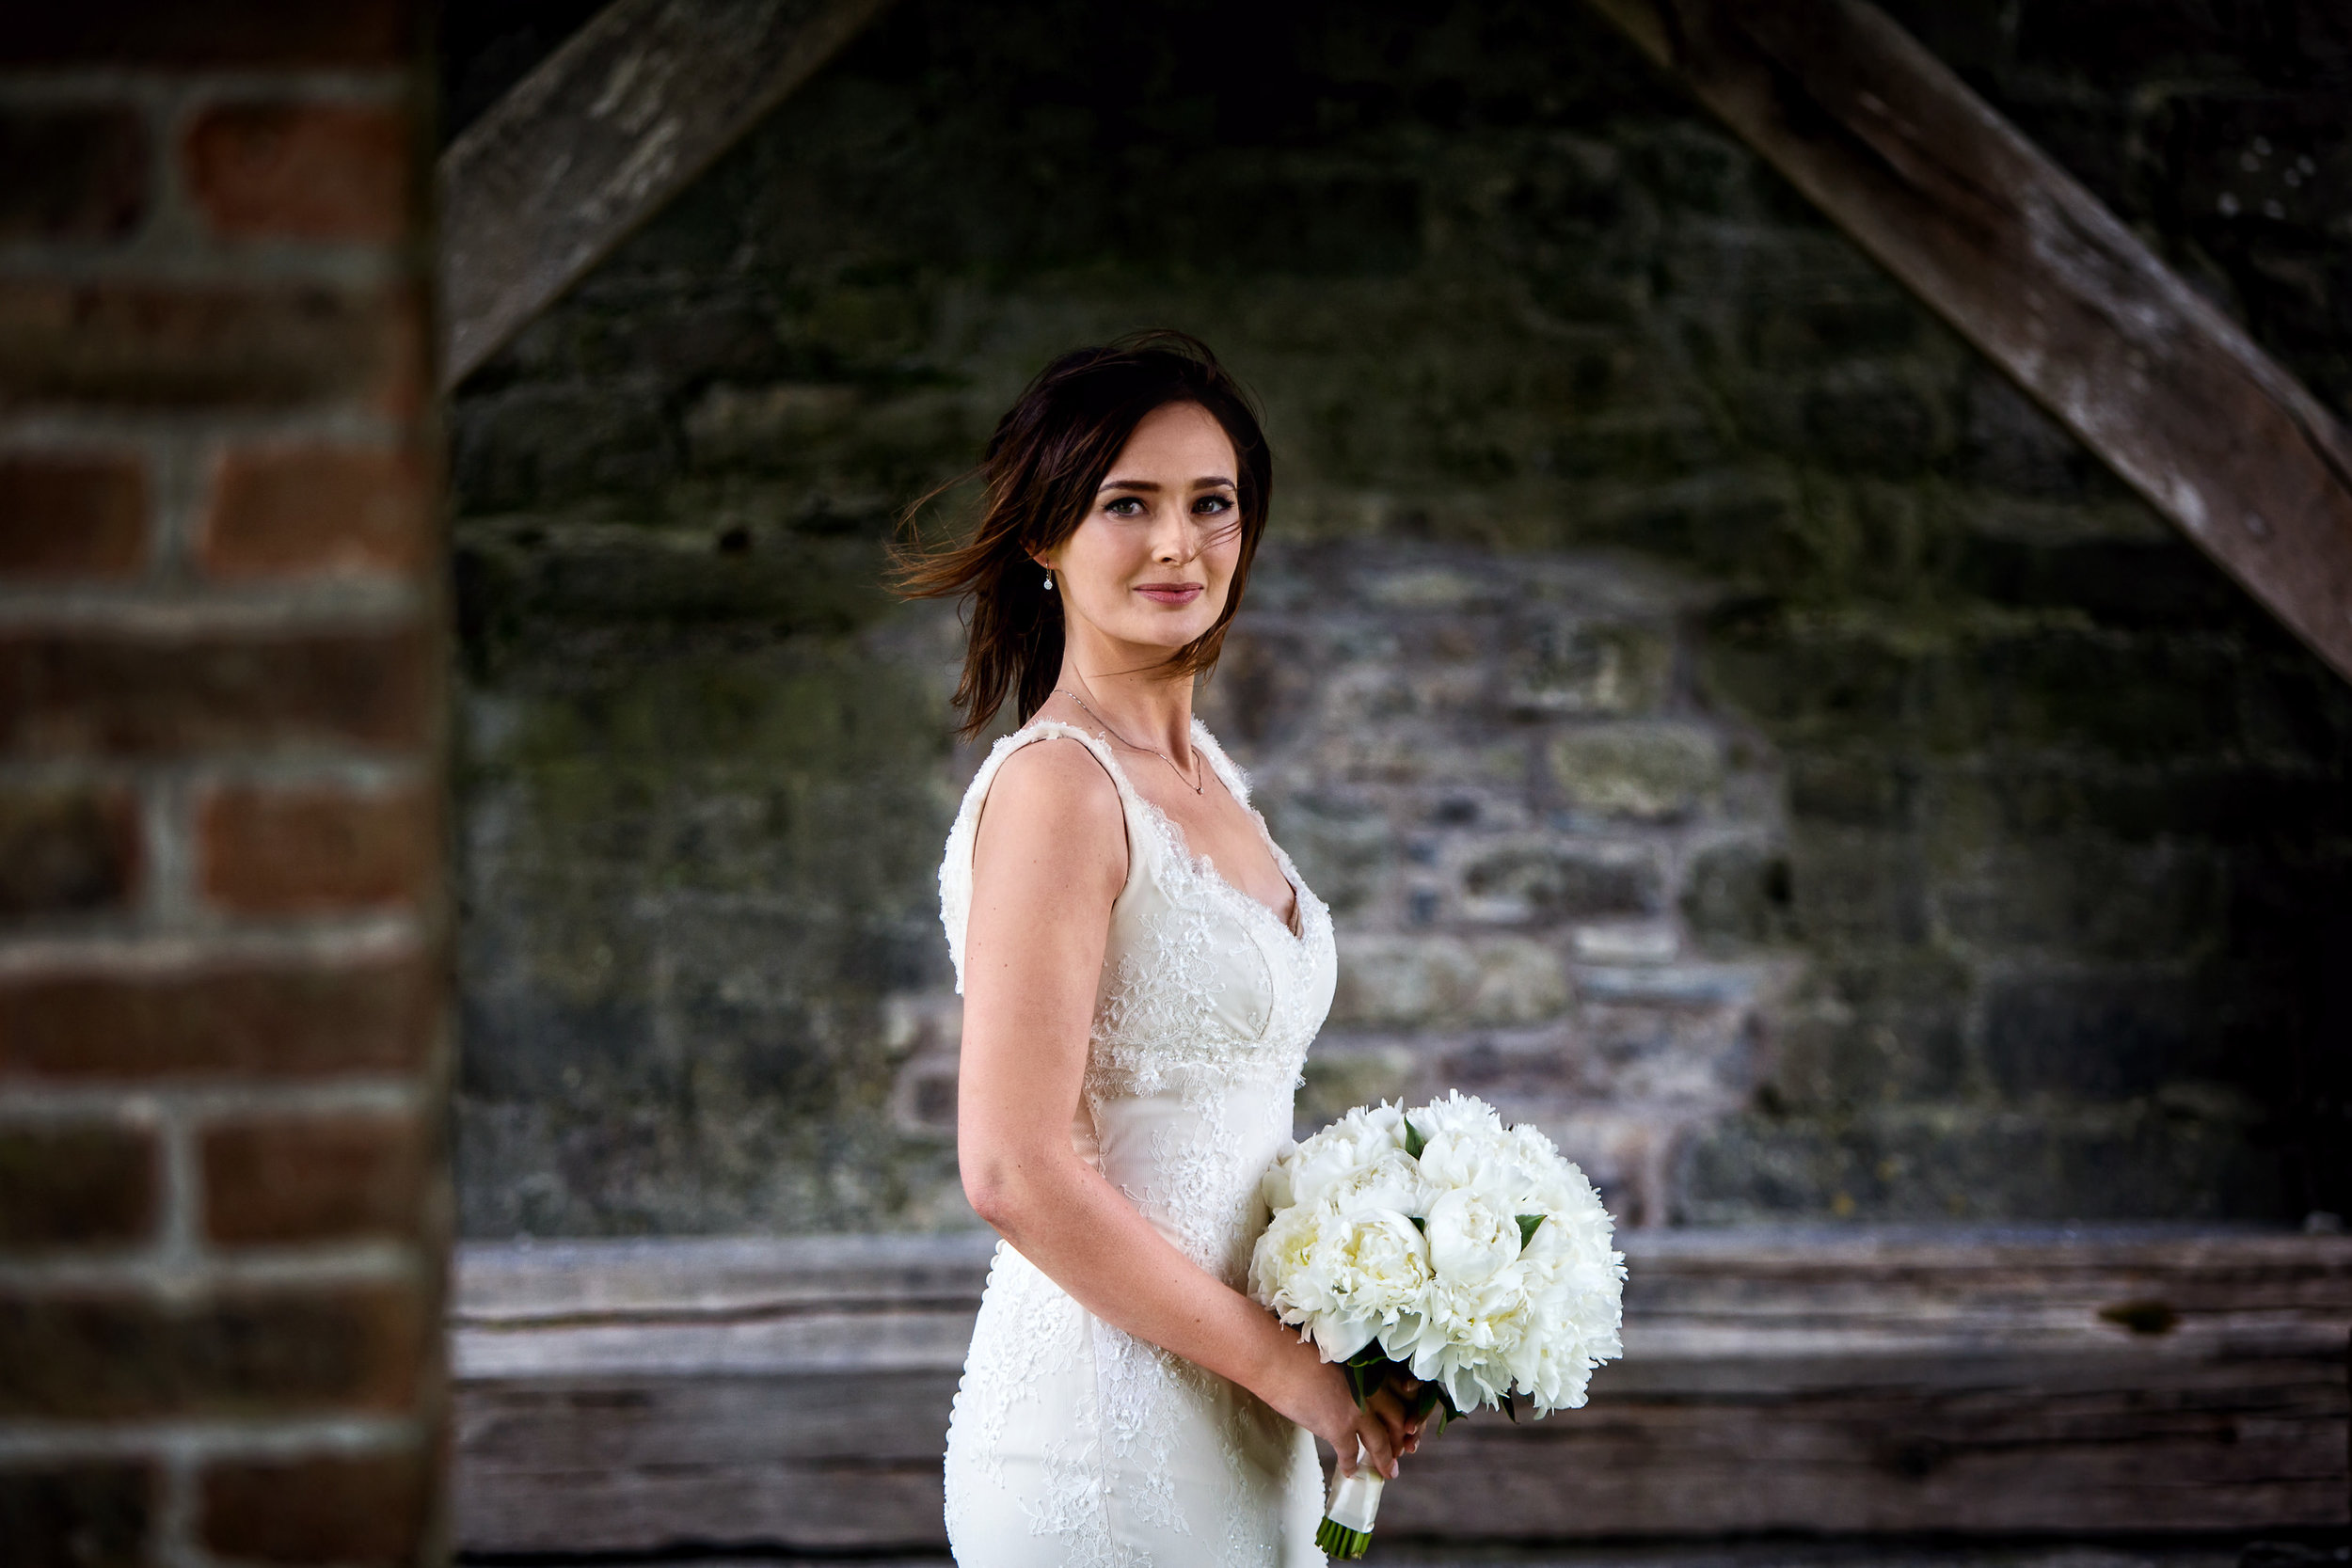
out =
[[2352,679],[2352,440],[1863,0],[1588,0]]

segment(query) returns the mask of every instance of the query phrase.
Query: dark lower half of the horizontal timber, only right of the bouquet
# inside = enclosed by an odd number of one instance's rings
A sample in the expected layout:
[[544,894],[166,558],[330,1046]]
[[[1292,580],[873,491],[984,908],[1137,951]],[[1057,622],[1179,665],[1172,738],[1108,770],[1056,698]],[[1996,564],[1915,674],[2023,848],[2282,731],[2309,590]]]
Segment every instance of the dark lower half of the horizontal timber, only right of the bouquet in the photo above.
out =
[[2058,1366],[2004,1371],[2023,1380],[1780,1399],[1611,1389],[1573,1418],[1477,1420],[1416,1458],[1383,1523],[1444,1533],[1472,1514],[1566,1540],[2225,1530],[2345,1516],[2333,1359],[2169,1368],[2131,1387],[2079,1387],[2089,1380]]

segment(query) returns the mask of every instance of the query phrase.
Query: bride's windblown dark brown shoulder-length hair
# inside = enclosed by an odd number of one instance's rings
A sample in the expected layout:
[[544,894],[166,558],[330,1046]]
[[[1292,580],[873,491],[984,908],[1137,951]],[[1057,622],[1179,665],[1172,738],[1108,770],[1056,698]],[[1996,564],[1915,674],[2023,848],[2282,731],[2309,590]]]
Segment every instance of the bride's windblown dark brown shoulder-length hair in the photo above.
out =
[[[1183,331],[1138,331],[1101,348],[1061,355],[1028,383],[997,421],[981,465],[917,498],[901,515],[891,548],[896,588],[910,599],[964,599],[964,679],[955,705],[957,733],[978,736],[1011,693],[1023,722],[1054,696],[1061,675],[1061,597],[1047,592],[1033,559],[1077,531],[1103,475],[1155,409],[1195,402],[1223,425],[1240,463],[1242,559],[1232,569],[1225,611],[1207,632],[1176,649],[1167,672],[1197,675],[1225,646],[1225,625],[1242,607],[1249,562],[1265,534],[1275,458],[1258,411],[1209,346]],[[969,538],[924,545],[917,515],[964,480],[985,494]]]

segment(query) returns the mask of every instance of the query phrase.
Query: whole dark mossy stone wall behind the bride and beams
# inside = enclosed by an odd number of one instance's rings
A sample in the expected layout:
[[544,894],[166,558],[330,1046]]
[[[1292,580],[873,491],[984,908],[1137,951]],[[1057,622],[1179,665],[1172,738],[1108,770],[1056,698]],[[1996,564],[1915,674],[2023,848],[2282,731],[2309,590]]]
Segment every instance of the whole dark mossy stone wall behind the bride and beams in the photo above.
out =
[[[1912,21],[2343,407],[2338,24],[2114,12]],[[1204,712],[1343,914],[1308,1114],[1642,1222],[2352,1201],[2352,693],[1613,35],[908,0],[456,400],[468,1234],[971,1222],[880,548],[1143,324],[1277,442]]]

